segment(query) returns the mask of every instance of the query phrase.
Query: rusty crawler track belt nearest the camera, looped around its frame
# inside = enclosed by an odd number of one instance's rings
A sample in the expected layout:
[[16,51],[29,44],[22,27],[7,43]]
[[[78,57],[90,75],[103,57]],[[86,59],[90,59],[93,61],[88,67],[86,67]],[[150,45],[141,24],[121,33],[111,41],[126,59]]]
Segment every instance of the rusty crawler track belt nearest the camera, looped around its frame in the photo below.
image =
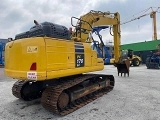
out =
[[[61,93],[72,87],[75,86],[87,79],[91,78],[98,78],[98,77],[104,77],[110,80],[110,85],[100,89],[96,92],[92,92],[84,97],[81,97],[77,100],[74,100],[70,102],[65,108],[60,109],[58,107],[58,100]],[[41,103],[42,106],[49,111],[52,111],[55,114],[58,115],[67,115],[69,113],[72,113],[73,111],[81,108],[82,106],[92,102],[93,100],[97,99],[98,97],[104,95],[105,93],[111,91],[114,87],[114,77],[112,75],[97,75],[97,74],[84,74],[78,77],[72,77],[69,80],[65,80],[62,83],[55,85],[55,86],[49,86],[45,89],[45,91],[42,94]],[[65,100],[64,100],[65,102]]]

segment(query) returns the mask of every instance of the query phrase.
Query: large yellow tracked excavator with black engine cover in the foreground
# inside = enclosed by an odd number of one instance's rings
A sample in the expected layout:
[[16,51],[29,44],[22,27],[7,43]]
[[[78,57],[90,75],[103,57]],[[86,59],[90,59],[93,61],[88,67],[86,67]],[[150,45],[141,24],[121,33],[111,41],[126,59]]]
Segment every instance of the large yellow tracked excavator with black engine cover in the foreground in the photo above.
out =
[[[41,97],[44,108],[63,116],[113,89],[113,75],[88,73],[103,70],[104,62],[87,38],[93,26],[112,25],[118,63],[119,13],[91,11],[78,21],[73,32],[62,25],[34,21],[29,31],[10,39],[5,47],[5,74],[18,79],[12,87],[15,97],[26,101]],[[118,63],[118,72],[128,73],[125,63]]]

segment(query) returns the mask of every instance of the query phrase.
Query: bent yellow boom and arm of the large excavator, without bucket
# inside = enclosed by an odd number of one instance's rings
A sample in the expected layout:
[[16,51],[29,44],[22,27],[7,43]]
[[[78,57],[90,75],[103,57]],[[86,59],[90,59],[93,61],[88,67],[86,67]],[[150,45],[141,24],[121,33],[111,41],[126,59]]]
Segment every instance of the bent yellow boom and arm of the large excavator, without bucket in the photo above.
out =
[[[76,18],[76,17],[72,17]],[[76,18],[78,19],[78,18]],[[71,20],[72,21],[72,20]],[[71,22],[72,23],[72,22]],[[73,25],[73,23],[72,23]],[[119,61],[120,57],[120,15],[119,13],[101,12],[91,10],[89,13],[82,15],[74,26],[73,37],[80,38],[81,42],[92,42],[88,39],[89,33],[95,26],[109,25],[112,26],[114,39],[114,58],[115,62]]]

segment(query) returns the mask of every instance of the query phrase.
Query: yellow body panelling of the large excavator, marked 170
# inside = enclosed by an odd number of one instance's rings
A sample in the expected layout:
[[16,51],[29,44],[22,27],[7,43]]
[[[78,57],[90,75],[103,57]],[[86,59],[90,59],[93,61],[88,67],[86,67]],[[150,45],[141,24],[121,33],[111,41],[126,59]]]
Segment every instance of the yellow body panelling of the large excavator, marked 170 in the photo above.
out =
[[90,43],[32,37],[11,41],[5,49],[5,74],[21,80],[48,80],[104,68]]

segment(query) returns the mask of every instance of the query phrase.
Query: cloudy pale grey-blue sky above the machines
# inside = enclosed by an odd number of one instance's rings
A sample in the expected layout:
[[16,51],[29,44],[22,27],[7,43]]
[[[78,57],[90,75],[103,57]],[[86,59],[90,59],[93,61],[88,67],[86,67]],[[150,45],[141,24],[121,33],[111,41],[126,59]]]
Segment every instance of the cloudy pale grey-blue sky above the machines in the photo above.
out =
[[[160,7],[159,0],[0,0],[0,38],[14,38],[28,31],[33,20],[48,21],[70,27],[70,18],[79,17],[90,10],[119,12],[121,23],[145,14],[149,7]],[[156,8],[155,8],[156,10]],[[146,13],[151,12],[151,10]],[[160,9],[159,9],[160,12]],[[109,31],[102,31],[105,42],[111,42]],[[105,33],[105,34],[104,34]],[[160,39],[160,13],[157,13],[157,35]],[[121,43],[152,40],[150,16],[121,25]]]

